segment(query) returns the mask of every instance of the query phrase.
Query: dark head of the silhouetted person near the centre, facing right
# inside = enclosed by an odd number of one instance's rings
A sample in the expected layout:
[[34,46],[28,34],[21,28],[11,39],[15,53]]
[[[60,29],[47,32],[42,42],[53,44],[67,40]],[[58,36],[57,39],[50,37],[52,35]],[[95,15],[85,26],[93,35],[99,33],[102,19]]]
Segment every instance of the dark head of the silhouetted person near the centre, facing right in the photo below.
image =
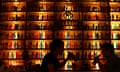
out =
[[64,42],[60,39],[55,39],[50,43],[50,51],[61,54],[64,51]]

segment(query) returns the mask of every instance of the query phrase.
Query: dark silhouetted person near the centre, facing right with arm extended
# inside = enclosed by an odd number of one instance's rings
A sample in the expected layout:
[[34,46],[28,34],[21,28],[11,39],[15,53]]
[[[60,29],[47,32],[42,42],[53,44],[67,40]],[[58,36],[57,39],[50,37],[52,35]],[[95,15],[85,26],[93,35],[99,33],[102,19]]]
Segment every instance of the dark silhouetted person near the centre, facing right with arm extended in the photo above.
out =
[[67,62],[59,62],[57,56],[61,55],[64,51],[64,42],[60,39],[55,39],[50,43],[50,52],[45,55],[41,64],[41,72],[56,72],[58,67],[62,67]]

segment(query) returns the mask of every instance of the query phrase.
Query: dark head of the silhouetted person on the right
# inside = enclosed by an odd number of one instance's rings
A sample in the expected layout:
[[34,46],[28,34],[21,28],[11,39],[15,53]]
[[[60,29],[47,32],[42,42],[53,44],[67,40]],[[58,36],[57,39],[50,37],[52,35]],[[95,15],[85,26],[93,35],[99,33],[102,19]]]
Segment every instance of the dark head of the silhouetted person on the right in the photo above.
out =
[[101,45],[102,54],[104,57],[109,58],[114,55],[114,47],[111,43],[103,43]]

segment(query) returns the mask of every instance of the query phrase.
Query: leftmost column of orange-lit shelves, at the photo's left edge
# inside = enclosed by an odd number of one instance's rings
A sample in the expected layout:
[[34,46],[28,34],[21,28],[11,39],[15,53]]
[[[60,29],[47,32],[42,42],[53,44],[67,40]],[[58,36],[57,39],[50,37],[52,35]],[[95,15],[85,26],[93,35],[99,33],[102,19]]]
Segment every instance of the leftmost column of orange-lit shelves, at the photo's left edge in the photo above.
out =
[[22,65],[26,2],[4,1],[1,5],[0,43],[1,58],[11,65]]

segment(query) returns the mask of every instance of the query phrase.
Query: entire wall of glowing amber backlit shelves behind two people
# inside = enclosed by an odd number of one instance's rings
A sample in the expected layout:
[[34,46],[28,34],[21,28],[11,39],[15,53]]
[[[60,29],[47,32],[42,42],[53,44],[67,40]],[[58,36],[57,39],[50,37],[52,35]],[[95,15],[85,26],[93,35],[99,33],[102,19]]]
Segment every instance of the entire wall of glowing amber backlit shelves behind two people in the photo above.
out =
[[8,65],[23,65],[25,48],[41,64],[54,38],[65,44],[61,60],[77,57],[59,70],[99,70],[92,62],[104,42],[120,55],[120,1],[2,0],[0,17],[0,57]]

